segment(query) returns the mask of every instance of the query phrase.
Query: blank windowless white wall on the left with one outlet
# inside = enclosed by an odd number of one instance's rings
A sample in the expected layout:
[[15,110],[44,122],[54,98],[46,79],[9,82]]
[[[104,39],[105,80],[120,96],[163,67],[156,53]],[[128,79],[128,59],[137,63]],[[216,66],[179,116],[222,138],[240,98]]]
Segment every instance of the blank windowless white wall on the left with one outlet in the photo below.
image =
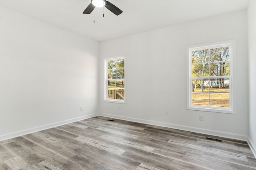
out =
[[0,141],[97,113],[98,58],[97,41],[0,7]]

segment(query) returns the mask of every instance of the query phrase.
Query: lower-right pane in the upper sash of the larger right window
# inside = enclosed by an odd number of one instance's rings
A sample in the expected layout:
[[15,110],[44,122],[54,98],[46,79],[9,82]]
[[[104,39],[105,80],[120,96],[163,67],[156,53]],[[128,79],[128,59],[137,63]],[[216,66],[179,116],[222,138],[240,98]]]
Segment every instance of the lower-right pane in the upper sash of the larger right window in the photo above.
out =
[[210,76],[229,76],[229,62],[211,63]]

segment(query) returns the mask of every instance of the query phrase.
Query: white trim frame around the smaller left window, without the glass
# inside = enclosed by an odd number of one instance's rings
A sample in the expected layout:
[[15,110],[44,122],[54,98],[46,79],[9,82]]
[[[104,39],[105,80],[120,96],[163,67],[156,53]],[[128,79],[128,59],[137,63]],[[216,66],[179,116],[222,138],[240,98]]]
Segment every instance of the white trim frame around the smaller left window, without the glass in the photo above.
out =
[[[107,77],[108,77],[108,62],[109,60],[117,60],[117,59],[124,59],[124,100],[120,99],[108,99],[108,84],[107,84]],[[119,103],[119,104],[126,104],[126,55],[120,55],[115,57],[105,57],[104,58],[104,99],[103,102],[111,102],[111,103]]]

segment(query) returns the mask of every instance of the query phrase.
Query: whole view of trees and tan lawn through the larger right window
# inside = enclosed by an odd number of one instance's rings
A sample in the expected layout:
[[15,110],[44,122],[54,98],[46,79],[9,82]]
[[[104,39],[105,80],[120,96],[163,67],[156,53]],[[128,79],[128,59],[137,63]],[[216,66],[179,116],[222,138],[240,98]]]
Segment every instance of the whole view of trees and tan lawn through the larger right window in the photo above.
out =
[[192,104],[229,107],[229,47],[192,51]]

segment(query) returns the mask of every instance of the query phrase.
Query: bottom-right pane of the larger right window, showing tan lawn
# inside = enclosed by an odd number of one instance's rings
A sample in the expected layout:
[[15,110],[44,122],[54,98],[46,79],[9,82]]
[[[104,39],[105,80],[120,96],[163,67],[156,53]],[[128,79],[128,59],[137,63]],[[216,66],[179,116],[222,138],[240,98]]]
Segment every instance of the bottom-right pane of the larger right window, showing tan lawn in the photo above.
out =
[[210,93],[210,106],[229,107],[229,93]]

